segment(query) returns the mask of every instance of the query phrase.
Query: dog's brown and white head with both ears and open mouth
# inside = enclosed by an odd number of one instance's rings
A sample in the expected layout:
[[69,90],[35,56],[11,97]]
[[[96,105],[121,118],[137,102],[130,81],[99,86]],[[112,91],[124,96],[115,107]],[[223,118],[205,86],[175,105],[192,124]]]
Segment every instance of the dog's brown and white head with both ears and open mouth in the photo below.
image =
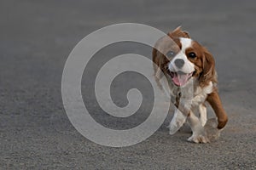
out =
[[[170,41],[170,37],[172,41]],[[158,51],[157,49],[160,49]],[[189,79],[196,78],[201,86],[208,82],[216,82],[215,63],[207,50],[199,42],[189,37],[189,33],[177,27],[166,37],[160,38],[153,50],[155,76],[160,79],[162,71],[166,77],[171,77],[172,83],[183,87]]]

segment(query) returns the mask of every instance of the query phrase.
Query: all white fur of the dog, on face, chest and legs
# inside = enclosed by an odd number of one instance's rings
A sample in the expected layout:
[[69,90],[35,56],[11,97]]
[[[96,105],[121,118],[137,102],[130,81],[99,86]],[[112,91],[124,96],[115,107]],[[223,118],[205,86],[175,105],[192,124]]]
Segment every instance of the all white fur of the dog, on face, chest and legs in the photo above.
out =
[[[195,65],[187,58],[186,49],[191,47],[192,40],[182,37],[180,38],[180,42],[182,44],[182,48],[169,63],[168,69],[170,71],[183,71],[185,73],[191,73],[195,71]],[[177,66],[174,64],[175,59],[184,60],[184,65],[182,68],[177,68]],[[207,108],[204,105],[204,102],[207,99],[207,94],[212,93],[214,88],[213,83],[210,82],[206,87],[201,88],[199,86],[199,82],[192,77],[182,88],[180,88],[173,85],[171,78],[168,77],[167,79],[168,82],[160,82],[166,91],[166,94],[171,96],[172,101],[173,99],[176,99],[178,94],[181,94],[180,105],[183,105],[183,107],[189,110],[189,113],[183,113],[175,108],[172,121],[169,125],[170,134],[176,133],[187,120],[193,132],[192,136],[188,140],[195,143],[207,143],[208,139],[204,130],[204,126],[207,122]],[[195,111],[199,111],[200,118],[195,116]]]

